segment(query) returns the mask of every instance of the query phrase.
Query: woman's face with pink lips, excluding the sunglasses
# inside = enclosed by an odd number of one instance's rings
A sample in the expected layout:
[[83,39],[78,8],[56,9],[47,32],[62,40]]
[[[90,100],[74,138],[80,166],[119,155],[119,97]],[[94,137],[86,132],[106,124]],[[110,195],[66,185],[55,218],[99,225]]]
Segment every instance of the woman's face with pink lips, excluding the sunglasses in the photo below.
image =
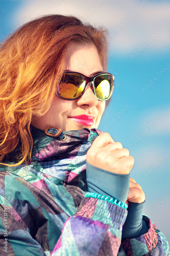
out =
[[[70,44],[67,48],[65,70],[79,72],[88,77],[103,72],[95,45]],[[63,100],[54,95],[49,110],[40,118],[33,117],[32,125],[41,130],[53,126],[61,128],[62,131],[97,128],[104,108],[105,101],[98,100],[88,84],[78,100]]]

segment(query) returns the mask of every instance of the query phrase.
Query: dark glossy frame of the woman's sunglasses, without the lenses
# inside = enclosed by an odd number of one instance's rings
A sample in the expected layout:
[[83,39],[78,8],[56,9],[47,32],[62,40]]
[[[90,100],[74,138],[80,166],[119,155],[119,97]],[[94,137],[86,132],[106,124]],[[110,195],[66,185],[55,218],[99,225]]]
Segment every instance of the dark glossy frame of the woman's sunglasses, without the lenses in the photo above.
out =
[[[92,84],[92,86],[93,86],[93,93],[95,94],[95,96],[96,96],[96,93],[95,93],[95,87],[94,87],[94,79],[96,78],[96,77],[98,77],[99,75],[109,75],[109,76],[111,76],[111,78],[112,78],[112,84],[111,84],[111,90],[110,90],[110,94],[109,94],[109,97],[107,98],[107,99],[104,99],[104,100],[108,100],[110,97],[111,97],[111,95],[112,95],[112,92],[113,92],[113,87],[114,87],[114,76],[112,75],[112,74],[110,74],[110,73],[98,73],[98,74],[96,74],[95,76],[92,76],[92,77],[87,77],[87,76],[85,76],[84,74],[82,74],[82,73],[79,73],[79,72],[74,72],[74,71],[65,71],[64,73],[63,73],[63,75],[64,74],[67,74],[67,73],[70,73],[70,74],[79,74],[79,75],[81,75],[81,76],[83,76],[84,78],[85,78],[85,80],[86,80],[86,84],[85,84],[85,87],[84,87],[84,90],[82,91],[82,93],[79,95],[79,97],[77,97],[77,98],[75,98],[75,99],[66,99],[66,98],[63,98],[61,95],[60,95],[60,92],[59,92],[59,84],[58,84],[58,87],[57,87],[57,96],[59,96],[61,99],[63,99],[63,100],[78,100],[78,99],[80,99],[81,97],[82,97],[82,95],[83,95],[83,93],[85,92],[85,90],[86,90],[86,88],[87,88],[87,86],[88,86],[88,83],[91,83]],[[96,96],[96,98],[97,98],[97,96]],[[97,98],[98,99],[98,98]],[[98,99],[98,100],[101,100],[101,101],[104,101],[103,99]]]

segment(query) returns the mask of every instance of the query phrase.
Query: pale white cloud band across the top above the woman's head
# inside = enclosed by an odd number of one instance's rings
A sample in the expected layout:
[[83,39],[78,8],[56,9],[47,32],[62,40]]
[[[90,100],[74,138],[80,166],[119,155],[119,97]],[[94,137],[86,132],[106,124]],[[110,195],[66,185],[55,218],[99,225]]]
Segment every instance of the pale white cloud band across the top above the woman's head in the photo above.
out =
[[[158,50],[169,46],[169,11],[170,5],[166,1],[148,1],[140,7],[135,0],[130,3],[126,0],[30,0],[23,1],[21,9],[15,14],[14,22],[15,25],[22,25],[46,14],[73,15],[92,25],[102,24],[107,27],[109,33],[113,34],[109,40],[111,49],[133,54],[138,46],[146,43],[145,40],[153,35],[154,30],[160,33],[145,49]],[[127,23],[121,27],[124,19]],[[116,26],[120,29],[116,30]]]

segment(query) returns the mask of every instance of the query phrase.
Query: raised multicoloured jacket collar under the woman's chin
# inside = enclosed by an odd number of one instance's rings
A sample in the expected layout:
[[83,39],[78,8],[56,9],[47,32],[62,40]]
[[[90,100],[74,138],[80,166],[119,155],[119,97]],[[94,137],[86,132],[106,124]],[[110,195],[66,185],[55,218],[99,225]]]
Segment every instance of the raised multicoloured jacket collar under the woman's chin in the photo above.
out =
[[85,143],[85,141],[92,144],[95,138],[103,133],[95,128],[65,131],[63,133],[66,135],[66,140],[61,141],[59,137],[50,137],[46,135],[44,131],[34,126],[30,128],[33,137],[33,161],[43,161],[46,158],[64,159],[76,156],[80,146]]

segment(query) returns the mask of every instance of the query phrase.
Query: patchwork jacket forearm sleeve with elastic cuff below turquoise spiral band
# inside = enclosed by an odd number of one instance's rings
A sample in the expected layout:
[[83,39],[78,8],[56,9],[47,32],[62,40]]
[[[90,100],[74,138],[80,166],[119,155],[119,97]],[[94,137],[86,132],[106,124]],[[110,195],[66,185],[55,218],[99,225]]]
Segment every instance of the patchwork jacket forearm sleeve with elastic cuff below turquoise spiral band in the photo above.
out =
[[82,198],[65,223],[52,256],[117,255],[127,210],[96,198]]

